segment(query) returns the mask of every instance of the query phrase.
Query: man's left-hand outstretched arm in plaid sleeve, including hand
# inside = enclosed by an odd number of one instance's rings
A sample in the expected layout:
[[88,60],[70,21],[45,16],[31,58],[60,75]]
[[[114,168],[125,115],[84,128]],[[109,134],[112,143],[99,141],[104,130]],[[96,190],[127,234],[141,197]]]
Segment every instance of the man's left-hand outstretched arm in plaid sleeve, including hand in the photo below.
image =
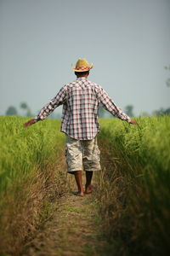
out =
[[37,114],[37,116],[34,119],[29,120],[24,124],[24,127],[33,125],[37,123],[40,120],[46,119],[48,115],[52,112],[54,112],[54,109],[59,107],[59,105],[62,105],[65,102],[65,96],[66,96],[66,85],[63,86],[59,93],[47,104],[45,105],[40,112]]

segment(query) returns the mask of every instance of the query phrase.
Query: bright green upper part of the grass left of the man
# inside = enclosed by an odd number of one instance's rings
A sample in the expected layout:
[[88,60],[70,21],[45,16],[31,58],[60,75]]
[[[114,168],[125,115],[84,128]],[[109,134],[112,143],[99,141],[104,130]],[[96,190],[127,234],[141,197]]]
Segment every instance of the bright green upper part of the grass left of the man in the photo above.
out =
[[45,120],[24,128],[26,118],[0,118],[0,187],[5,191],[16,180],[30,175],[32,169],[45,168],[59,155],[65,136],[58,120]]

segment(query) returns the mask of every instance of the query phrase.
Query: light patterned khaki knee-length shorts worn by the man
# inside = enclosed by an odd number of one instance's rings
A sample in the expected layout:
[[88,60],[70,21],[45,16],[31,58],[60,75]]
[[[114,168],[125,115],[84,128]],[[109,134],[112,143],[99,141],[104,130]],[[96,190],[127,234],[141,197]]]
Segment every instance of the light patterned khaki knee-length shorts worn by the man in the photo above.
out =
[[65,156],[68,172],[99,171],[99,148],[97,137],[80,141],[66,136]]

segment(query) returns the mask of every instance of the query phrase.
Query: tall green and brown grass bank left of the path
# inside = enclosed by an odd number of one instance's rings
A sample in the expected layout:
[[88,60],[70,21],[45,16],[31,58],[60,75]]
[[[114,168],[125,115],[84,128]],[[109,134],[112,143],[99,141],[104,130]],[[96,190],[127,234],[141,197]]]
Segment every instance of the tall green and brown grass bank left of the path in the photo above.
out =
[[65,136],[59,121],[24,128],[26,118],[0,118],[0,253],[18,255],[51,201],[65,193]]

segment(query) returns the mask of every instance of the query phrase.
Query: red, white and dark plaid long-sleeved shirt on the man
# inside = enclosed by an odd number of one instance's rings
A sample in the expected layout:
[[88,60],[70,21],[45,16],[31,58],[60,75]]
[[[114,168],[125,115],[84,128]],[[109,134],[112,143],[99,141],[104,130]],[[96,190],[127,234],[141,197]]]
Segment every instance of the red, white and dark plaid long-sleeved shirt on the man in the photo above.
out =
[[83,77],[65,84],[41,109],[35,120],[47,118],[61,104],[63,105],[61,131],[78,140],[91,140],[100,131],[99,104],[117,118],[130,122],[127,114],[116,106],[99,84]]

